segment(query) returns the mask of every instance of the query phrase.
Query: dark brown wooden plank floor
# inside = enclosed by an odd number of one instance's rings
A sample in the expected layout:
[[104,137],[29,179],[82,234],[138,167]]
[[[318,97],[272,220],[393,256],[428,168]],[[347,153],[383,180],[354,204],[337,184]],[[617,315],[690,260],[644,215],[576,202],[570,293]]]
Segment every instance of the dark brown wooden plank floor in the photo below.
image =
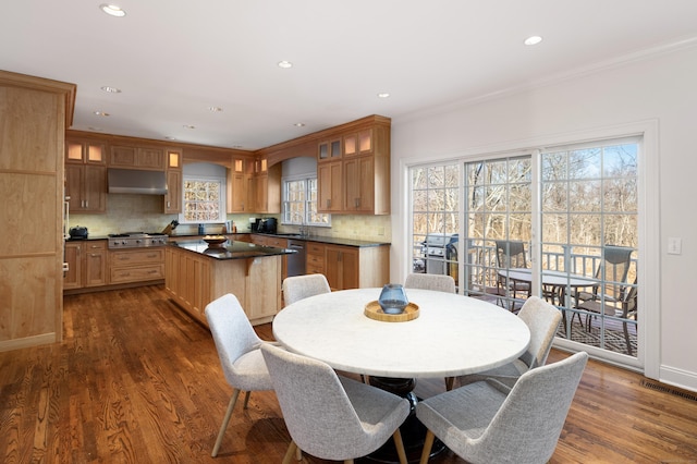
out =
[[[161,286],[66,296],[64,331],[61,344],[0,353],[0,461],[281,462],[289,435],[272,392],[237,405],[210,457],[231,389],[210,333]],[[551,462],[697,463],[696,395],[643,380],[589,362]],[[442,390],[417,384],[423,398]],[[463,461],[447,450],[432,462]]]

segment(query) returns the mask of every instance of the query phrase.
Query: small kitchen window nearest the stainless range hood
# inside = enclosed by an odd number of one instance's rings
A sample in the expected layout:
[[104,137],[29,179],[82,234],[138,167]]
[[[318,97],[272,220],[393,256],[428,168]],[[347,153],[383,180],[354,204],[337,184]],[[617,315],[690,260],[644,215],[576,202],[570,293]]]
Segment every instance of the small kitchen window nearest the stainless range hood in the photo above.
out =
[[184,166],[181,223],[220,223],[225,217],[224,168],[217,164]]

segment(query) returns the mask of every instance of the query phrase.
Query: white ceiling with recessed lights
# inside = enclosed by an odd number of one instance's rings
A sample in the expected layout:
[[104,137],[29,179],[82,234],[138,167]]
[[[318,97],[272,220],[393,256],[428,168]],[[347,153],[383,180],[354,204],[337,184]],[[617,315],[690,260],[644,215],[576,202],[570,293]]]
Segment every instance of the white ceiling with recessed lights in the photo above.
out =
[[73,129],[243,149],[697,40],[695,0],[111,1],[4,2],[0,69],[77,84]]

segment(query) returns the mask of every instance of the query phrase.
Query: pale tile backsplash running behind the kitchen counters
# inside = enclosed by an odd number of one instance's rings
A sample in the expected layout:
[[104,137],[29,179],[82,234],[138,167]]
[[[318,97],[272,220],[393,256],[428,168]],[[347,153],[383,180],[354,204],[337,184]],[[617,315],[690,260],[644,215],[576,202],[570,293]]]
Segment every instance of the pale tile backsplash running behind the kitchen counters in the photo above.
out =
[[[70,227],[82,225],[89,235],[101,236],[124,232],[161,232],[178,215],[164,215],[163,197],[159,195],[108,194],[105,215],[70,215]],[[237,225],[239,232],[249,231],[249,218],[266,217],[280,219],[279,215],[228,215]],[[206,233],[219,233],[222,225],[208,224]],[[296,225],[279,222],[279,232],[296,232]],[[197,232],[196,225],[182,224],[180,234]],[[392,229],[390,216],[333,215],[331,228],[310,228],[316,236],[328,236],[375,242],[390,242]]]

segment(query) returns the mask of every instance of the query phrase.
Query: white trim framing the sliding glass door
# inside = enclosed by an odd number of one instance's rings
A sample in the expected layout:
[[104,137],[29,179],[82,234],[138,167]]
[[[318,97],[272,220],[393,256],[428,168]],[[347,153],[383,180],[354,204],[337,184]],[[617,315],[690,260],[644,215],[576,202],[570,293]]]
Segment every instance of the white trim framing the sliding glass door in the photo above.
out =
[[[661,366],[661,295],[660,295],[660,176],[659,176],[659,123],[658,120],[645,120],[626,124],[617,124],[599,129],[576,131],[548,136],[533,137],[529,139],[506,142],[503,144],[492,144],[465,149],[456,155],[442,156],[439,158],[433,154],[413,158],[402,158],[399,160],[399,171],[396,174],[398,186],[392,195],[393,205],[398,210],[404,211],[401,216],[393,217],[393,231],[401,231],[392,236],[394,249],[401,249],[400,256],[394,256],[395,268],[393,274],[398,281],[403,281],[411,271],[412,246],[409,234],[412,231],[412,219],[409,213],[411,205],[411,180],[409,169],[417,166],[435,162],[450,161],[472,161],[512,154],[527,151],[530,152],[537,147],[563,146],[567,144],[583,143],[584,141],[602,141],[604,138],[621,138],[625,136],[641,136],[643,144],[638,154],[638,185],[639,185],[639,217],[638,233],[640,251],[640,262],[638,267],[638,278],[641,282],[641,292],[638,294],[638,305],[641,312],[639,317],[643,323],[639,325],[637,337],[643,340],[643,346],[637,353],[636,365],[628,365],[626,359],[617,356],[616,361],[612,356],[603,357],[606,362],[621,365],[623,367],[635,368],[643,371],[645,376],[652,379],[673,381],[680,384],[680,373],[671,371],[665,366]],[[482,155],[484,154],[484,155]],[[400,194],[401,193],[401,194]],[[460,276],[464,272],[460,271]],[[560,344],[561,347],[563,347]],[[592,356],[592,353],[589,353]]]

